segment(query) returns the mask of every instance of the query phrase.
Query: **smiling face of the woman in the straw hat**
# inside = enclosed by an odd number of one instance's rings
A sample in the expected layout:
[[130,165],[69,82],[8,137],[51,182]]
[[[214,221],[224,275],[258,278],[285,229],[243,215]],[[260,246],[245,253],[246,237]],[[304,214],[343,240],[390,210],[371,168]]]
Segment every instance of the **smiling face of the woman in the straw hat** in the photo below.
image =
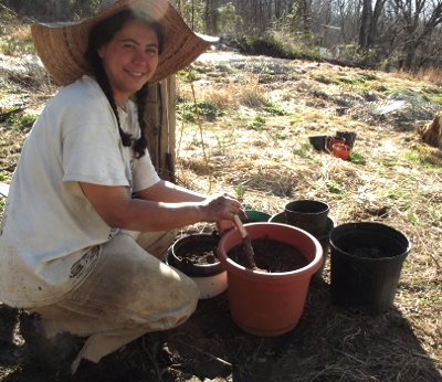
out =
[[97,53],[115,102],[122,105],[152,76],[158,64],[158,36],[143,20],[129,20]]

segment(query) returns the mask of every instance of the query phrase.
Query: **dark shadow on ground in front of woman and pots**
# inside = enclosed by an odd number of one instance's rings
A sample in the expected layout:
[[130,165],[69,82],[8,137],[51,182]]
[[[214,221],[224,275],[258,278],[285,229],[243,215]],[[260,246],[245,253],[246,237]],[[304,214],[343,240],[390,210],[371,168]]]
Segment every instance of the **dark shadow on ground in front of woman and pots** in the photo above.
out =
[[98,364],[83,362],[72,378],[30,362],[17,322],[18,311],[0,306],[2,382],[442,381],[399,309],[354,315],[330,304],[325,282],[311,287],[299,323],[284,336],[239,329],[224,293],[200,300],[182,326],[146,335]]

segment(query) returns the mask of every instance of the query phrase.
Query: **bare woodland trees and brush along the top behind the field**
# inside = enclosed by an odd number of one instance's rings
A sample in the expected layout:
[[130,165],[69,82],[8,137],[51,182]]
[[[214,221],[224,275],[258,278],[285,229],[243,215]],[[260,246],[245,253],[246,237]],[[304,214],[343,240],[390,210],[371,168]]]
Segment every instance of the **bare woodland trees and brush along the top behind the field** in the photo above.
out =
[[[367,67],[417,73],[440,68],[442,1],[172,0],[197,32],[240,50],[286,59],[325,55]],[[29,21],[82,20],[99,0],[1,0]]]

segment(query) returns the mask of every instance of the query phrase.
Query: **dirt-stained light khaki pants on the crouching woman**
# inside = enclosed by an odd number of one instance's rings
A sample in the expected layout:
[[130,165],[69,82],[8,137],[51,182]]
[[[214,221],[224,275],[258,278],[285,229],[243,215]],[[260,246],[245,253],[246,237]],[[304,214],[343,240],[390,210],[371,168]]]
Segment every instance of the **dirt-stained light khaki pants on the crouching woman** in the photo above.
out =
[[151,331],[183,323],[194,311],[199,289],[192,279],[161,262],[176,231],[122,230],[102,247],[83,284],[57,304],[25,309],[42,316],[49,338],[69,331],[88,337],[72,364],[104,356]]

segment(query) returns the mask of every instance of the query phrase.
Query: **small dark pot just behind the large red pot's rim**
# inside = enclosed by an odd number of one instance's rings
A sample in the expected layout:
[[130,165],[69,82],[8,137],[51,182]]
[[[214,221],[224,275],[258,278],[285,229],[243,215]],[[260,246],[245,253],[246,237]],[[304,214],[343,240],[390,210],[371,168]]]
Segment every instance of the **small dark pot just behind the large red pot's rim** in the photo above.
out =
[[315,237],[324,234],[329,206],[317,200],[294,200],[285,205],[287,223]]

